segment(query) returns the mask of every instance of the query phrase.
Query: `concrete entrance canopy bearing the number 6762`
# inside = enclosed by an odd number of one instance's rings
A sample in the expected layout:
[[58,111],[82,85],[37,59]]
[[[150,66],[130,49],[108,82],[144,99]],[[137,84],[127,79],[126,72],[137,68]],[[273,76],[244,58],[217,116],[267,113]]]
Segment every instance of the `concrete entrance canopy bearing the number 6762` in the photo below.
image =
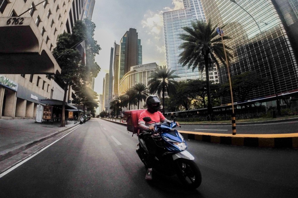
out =
[[33,18],[0,17],[0,33],[1,74],[61,73]]

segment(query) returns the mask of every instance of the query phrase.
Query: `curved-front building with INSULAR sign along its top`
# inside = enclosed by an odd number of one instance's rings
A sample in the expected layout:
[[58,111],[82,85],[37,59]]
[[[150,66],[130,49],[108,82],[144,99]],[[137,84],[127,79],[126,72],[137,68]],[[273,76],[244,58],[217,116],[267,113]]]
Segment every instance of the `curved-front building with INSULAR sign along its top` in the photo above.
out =
[[[119,95],[125,94],[125,92],[132,88],[136,83],[143,83],[148,87],[148,81],[150,75],[155,71],[158,65],[156,63],[149,63],[143,65],[132,66],[130,71],[124,75],[119,84]],[[140,102],[140,108],[144,106],[145,102]],[[125,109],[125,108],[124,108]],[[136,105],[131,106],[131,110],[137,109]]]

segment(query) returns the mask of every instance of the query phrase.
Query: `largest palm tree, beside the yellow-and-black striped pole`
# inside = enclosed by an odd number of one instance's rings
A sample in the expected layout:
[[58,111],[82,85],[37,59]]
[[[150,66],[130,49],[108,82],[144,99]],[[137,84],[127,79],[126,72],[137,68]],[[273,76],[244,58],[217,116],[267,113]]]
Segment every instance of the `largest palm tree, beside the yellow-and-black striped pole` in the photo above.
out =
[[[187,34],[180,34],[180,39],[186,41],[180,45],[181,49],[184,51],[179,55],[179,63],[182,66],[188,65],[188,68],[192,66],[194,70],[198,67],[199,70],[206,72],[207,81],[207,98],[208,98],[208,114],[212,114],[212,104],[210,96],[210,83],[209,83],[209,68],[213,68],[213,64],[216,64],[219,68],[218,59],[224,64],[225,55],[224,47],[221,41],[221,37],[218,37],[216,32],[216,26],[212,28],[210,20],[208,23],[198,20],[197,22],[192,22],[192,27],[183,27],[182,29],[187,32]],[[229,39],[229,37],[224,36],[224,40]],[[226,49],[229,49],[225,45]],[[228,56],[228,61],[230,61],[231,54],[226,50]],[[218,58],[218,59],[217,59]]]

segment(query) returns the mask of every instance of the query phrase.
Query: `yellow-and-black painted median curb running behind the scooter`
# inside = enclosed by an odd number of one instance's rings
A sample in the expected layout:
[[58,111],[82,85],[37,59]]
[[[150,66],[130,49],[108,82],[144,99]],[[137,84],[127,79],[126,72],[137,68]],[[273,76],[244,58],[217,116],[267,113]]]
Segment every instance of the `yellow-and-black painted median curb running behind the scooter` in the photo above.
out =
[[[292,120],[292,118],[290,119]],[[298,120],[298,118],[295,118],[295,119]],[[106,119],[103,119],[103,120],[106,120]],[[289,119],[283,119],[283,121],[285,120],[289,121]],[[126,123],[120,123],[120,122],[111,121],[111,120],[106,120],[106,121],[126,126]],[[218,144],[267,147],[267,148],[298,148],[298,137],[245,137],[244,134],[241,134],[241,135],[224,134],[221,136],[221,135],[211,135],[211,134],[204,134],[204,133],[194,134],[194,132],[189,132],[189,133],[180,132],[180,133],[183,135],[184,138],[189,140],[198,140],[198,141],[218,143]]]

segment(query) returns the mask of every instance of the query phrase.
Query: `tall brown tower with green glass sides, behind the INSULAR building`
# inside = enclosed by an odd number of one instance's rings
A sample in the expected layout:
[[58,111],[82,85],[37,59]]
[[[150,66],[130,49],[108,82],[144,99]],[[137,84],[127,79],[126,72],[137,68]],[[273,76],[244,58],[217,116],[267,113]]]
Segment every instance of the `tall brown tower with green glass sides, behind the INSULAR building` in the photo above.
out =
[[[120,40],[119,81],[131,66],[142,64],[142,45],[136,29],[129,28]],[[119,84],[118,81],[118,84]]]

